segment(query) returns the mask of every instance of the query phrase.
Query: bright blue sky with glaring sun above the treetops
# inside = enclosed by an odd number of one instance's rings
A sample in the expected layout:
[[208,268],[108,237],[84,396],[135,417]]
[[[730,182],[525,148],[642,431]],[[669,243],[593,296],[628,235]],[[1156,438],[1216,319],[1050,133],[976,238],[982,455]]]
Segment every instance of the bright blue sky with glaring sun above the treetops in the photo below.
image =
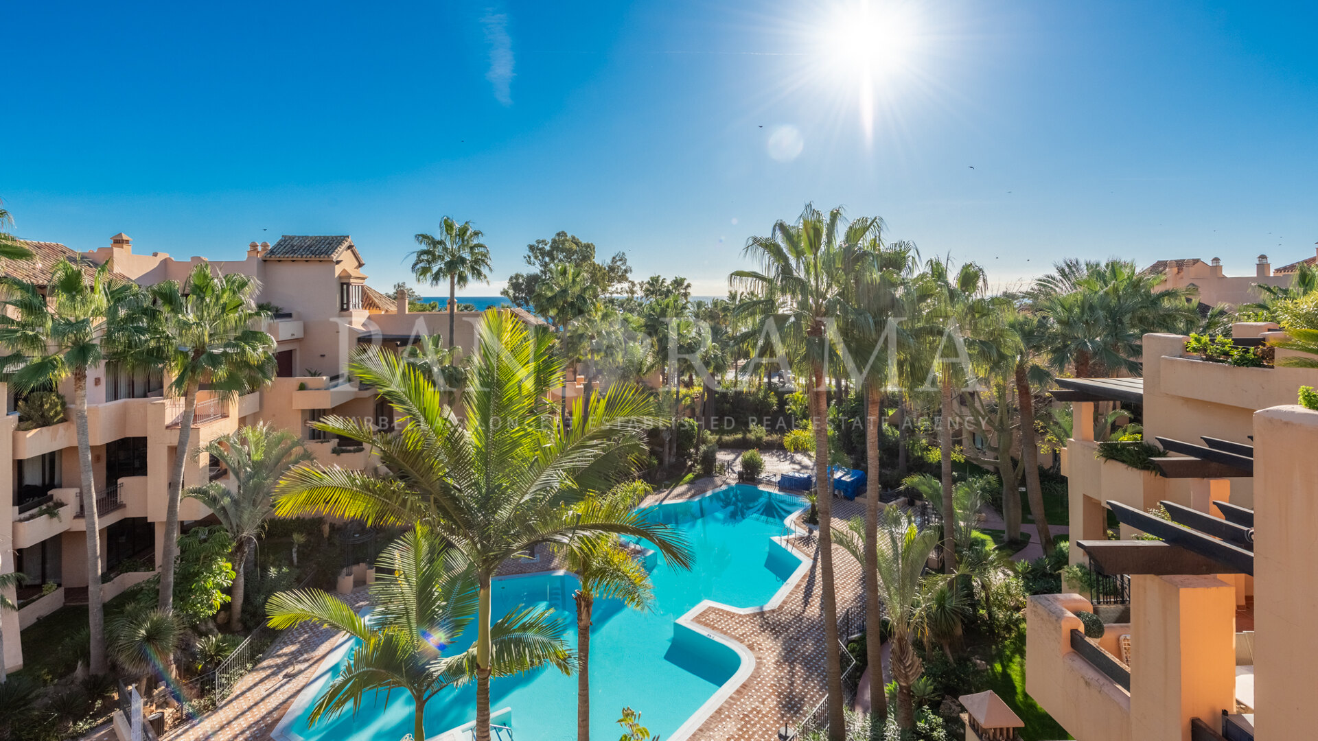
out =
[[[381,287],[445,214],[484,229],[496,278],[565,229],[697,294],[724,293],[746,239],[808,200],[880,215],[998,285],[1062,256],[1252,274],[1260,252],[1314,253],[1311,4],[863,12],[9,4],[0,198],[18,235],[78,249],[124,231],[141,252],[225,258],[351,233]],[[838,53],[858,28],[862,54],[888,50],[869,86]]]

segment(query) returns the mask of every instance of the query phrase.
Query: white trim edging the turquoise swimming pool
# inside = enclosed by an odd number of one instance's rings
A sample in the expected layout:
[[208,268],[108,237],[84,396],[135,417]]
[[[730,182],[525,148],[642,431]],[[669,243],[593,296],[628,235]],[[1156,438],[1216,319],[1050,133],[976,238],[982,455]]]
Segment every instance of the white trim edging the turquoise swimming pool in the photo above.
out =
[[[775,490],[762,489],[757,484],[747,481],[738,481],[734,484],[720,487],[717,489],[710,489],[704,494],[700,494],[699,497],[692,497],[689,500],[659,502],[650,506],[696,502],[705,497],[713,496],[718,492],[728,490],[737,485],[755,487],[757,489],[760,489],[770,494],[800,498],[800,494],[793,494],[789,492],[783,492],[776,489]],[[801,514],[803,512],[805,512],[804,506],[792,510],[783,519],[783,527],[788,533],[791,534],[803,533],[800,527],[792,525],[792,518]],[[716,603],[713,600],[701,600],[693,608],[687,610],[681,617],[673,621],[673,625],[681,625],[683,628],[687,628],[688,630],[696,633],[697,636],[704,636],[710,641],[728,646],[729,649],[737,653],[738,658],[741,658],[741,666],[737,667],[737,671],[733,672],[733,675],[728,679],[728,682],[724,682],[722,686],[718,687],[718,690],[716,690],[714,694],[710,695],[708,700],[705,700],[699,708],[696,708],[695,713],[692,713],[680,726],[677,726],[677,730],[675,730],[672,736],[668,737],[668,741],[687,741],[687,738],[691,737],[691,734],[695,733],[696,729],[701,726],[701,724],[709,720],[709,716],[714,715],[714,711],[717,711],[724,703],[726,703],[728,697],[730,697],[733,692],[735,692],[742,684],[745,684],[746,680],[750,679],[750,675],[755,671],[755,654],[753,654],[750,649],[747,649],[745,645],[742,645],[741,642],[735,641],[729,636],[725,636],[717,630],[696,624],[695,617],[701,612],[704,612],[706,608],[718,608],[734,614],[755,614],[776,609],[779,605],[782,605],[783,600],[787,599],[787,595],[791,593],[791,591],[796,587],[796,584],[805,576],[811,566],[811,558],[803,554],[801,551],[793,548],[789,543],[789,539],[791,539],[789,535],[786,534],[770,537],[770,541],[778,543],[783,550],[796,556],[801,563],[796,567],[792,575],[787,578],[787,581],[784,581],[783,585],[779,587],[776,592],[774,592],[774,596],[770,597],[770,600],[766,604],[753,608],[734,608],[731,605],[726,605],[724,603]],[[529,576],[569,576],[569,575],[571,575],[569,571],[559,568],[552,571],[531,571],[527,574],[510,574],[507,576],[498,576],[494,579],[494,581],[511,581],[514,579],[526,579]],[[294,733],[290,729],[290,726],[293,725],[293,720],[298,717],[302,713],[302,711],[304,711],[307,707],[311,705],[311,703],[316,697],[318,691],[324,686],[324,680],[328,678],[328,674],[339,665],[339,662],[343,661],[344,655],[348,653],[348,647],[352,646],[352,638],[348,637],[347,634],[344,634],[340,641],[341,641],[340,645],[331,649],[331,651],[316,667],[315,675],[312,675],[312,678],[307,680],[306,687],[303,687],[302,692],[299,692],[298,696],[294,699],[293,707],[289,708],[289,712],[283,713],[283,717],[279,719],[278,725],[275,725],[274,730],[270,732],[272,738],[274,738],[275,741],[307,741],[302,736]],[[513,708],[510,707],[501,708],[490,713],[490,719],[493,720],[494,717],[502,716],[503,713],[511,716]],[[472,728],[474,728],[474,725],[476,721],[465,723],[457,728],[451,728],[436,736],[430,736],[427,741],[460,741],[461,733],[464,730],[471,730]]]

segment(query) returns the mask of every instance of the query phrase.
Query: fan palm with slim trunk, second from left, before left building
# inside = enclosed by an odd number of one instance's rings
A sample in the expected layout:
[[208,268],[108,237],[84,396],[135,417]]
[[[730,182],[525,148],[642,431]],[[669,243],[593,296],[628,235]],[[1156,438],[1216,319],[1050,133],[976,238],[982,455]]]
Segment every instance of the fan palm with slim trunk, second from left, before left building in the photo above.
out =
[[173,378],[170,392],[183,398],[161,543],[159,607],[165,612],[174,609],[178,505],[198,392],[207,385],[217,394],[233,396],[258,389],[274,377],[274,339],[253,328],[270,316],[256,305],[260,287],[250,276],[216,276],[210,264],[202,262],[182,283],[162,281],[146,289],[148,301],[134,311],[136,330],[148,341],[129,353],[129,363],[165,368]]

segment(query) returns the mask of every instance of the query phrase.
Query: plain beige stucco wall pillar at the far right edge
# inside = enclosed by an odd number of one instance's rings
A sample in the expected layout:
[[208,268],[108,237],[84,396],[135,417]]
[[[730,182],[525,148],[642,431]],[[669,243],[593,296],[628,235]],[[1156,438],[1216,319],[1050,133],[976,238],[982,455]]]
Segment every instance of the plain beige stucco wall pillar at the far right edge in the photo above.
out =
[[1253,415],[1255,728],[1259,738],[1309,738],[1318,687],[1318,411]]

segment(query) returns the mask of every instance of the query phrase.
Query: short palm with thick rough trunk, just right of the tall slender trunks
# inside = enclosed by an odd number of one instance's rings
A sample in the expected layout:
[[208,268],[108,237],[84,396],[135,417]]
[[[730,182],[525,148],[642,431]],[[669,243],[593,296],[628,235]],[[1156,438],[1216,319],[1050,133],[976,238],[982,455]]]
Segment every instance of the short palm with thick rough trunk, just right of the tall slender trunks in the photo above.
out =
[[[915,695],[911,686],[924,671],[920,657],[915,653],[915,638],[924,625],[921,607],[927,604],[921,600],[924,564],[938,543],[938,533],[932,529],[917,530],[915,522],[895,506],[883,513],[883,523],[874,541],[876,567],[873,574],[879,587],[879,599],[887,608],[892,645],[890,661],[892,679],[898,683],[898,726],[909,733],[915,730]],[[869,558],[862,552],[866,550],[865,522],[861,518],[847,522],[847,529],[838,531],[838,543],[858,563],[865,563]],[[871,671],[870,687],[882,684],[882,676]]]

